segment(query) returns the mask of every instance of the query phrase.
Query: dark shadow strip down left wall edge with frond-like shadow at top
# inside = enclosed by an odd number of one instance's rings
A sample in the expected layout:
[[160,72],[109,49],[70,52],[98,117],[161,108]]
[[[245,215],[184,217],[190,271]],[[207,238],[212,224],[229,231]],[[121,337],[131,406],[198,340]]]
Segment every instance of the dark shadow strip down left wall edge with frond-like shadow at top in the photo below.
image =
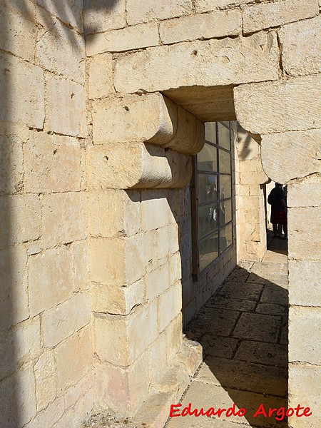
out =
[[[0,426],[1,428],[19,428],[29,422],[29,409],[24,407],[26,403],[26,370],[33,370],[33,363],[22,367],[21,355],[29,352],[29,343],[24,343],[18,338],[14,327],[19,322],[29,318],[29,304],[27,295],[27,253],[24,241],[24,228],[21,220],[28,216],[24,210],[26,205],[22,200],[24,191],[23,170],[23,143],[19,137],[18,121],[21,128],[26,128],[24,114],[19,111],[21,105],[14,104],[17,91],[17,78],[14,78],[15,68],[6,66],[6,58],[14,56],[21,58],[19,47],[21,44],[21,22],[41,21],[34,33],[36,35],[44,31],[54,31],[54,25],[58,21],[63,22],[61,33],[55,33],[55,37],[65,39],[66,44],[71,44],[73,49],[80,49],[76,29],[83,34],[99,31],[98,26],[88,24],[83,31],[83,0],[36,0],[37,7],[29,0],[11,0],[1,5],[0,13]],[[94,16],[111,16],[111,11],[118,0],[93,0],[85,1],[85,14]],[[43,7],[38,7],[43,6]],[[46,8],[43,9],[43,8]],[[49,13],[47,12],[49,11]],[[21,17],[21,19],[19,19]],[[98,20],[100,22],[101,19]],[[15,28],[16,26],[16,28]],[[18,28],[19,27],[19,28]],[[40,32],[40,33],[39,33]],[[37,34],[38,33],[38,34]],[[17,37],[17,39],[16,39]],[[19,39],[20,37],[20,39]],[[26,43],[33,44],[29,35],[23,34]],[[28,45],[29,46],[29,45]],[[61,44],[57,44],[61,49]],[[24,55],[24,53],[22,53]],[[54,55],[54,53],[53,53]],[[59,55],[57,55],[59,57]],[[26,61],[26,58],[21,58]],[[37,65],[37,58],[36,58]],[[18,110],[18,111],[17,111]],[[22,106],[26,111],[26,106]],[[34,113],[28,111],[27,116]],[[26,116],[26,115],[25,115]],[[18,117],[18,119],[17,119]],[[16,123],[14,123],[14,121]],[[19,139],[20,138],[20,139]],[[18,171],[18,173],[17,173]],[[24,219],[24,220],[23,220]],[[19,376],[14,374],[19,368]]]

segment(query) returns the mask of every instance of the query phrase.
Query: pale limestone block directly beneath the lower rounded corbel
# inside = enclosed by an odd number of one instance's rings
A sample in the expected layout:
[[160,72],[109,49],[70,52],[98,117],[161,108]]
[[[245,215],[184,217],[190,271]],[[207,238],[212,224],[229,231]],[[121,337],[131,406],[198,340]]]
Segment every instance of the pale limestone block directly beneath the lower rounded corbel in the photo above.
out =
[[132,236],[140,230],[140,194],[135,190],[93,191],[88,210],[91,236]]

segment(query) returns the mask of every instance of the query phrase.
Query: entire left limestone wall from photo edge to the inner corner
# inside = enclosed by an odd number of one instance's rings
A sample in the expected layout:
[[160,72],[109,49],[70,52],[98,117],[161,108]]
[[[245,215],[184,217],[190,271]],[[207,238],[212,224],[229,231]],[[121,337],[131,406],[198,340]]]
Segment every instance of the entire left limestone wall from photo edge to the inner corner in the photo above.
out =
[[1,1],[0,425],[93,407],[82,1]]

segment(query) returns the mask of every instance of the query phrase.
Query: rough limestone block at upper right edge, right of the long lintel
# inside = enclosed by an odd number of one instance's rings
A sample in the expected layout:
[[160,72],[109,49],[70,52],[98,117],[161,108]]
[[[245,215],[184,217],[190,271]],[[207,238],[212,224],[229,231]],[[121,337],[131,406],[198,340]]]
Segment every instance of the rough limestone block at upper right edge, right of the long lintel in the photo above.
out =
[[282,66],[289,76],[315,74],[320,70],[320,19],[295,22],[279,31]]

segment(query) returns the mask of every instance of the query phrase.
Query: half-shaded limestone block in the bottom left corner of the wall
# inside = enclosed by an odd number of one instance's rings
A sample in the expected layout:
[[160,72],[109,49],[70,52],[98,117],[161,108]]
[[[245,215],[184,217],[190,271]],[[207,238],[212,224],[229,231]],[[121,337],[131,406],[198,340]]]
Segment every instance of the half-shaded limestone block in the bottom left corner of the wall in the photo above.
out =
[[22,427],[36,415],[33,363],[23,365],[1,382],[0,415],[1,422],[5,422],[7,427]]

